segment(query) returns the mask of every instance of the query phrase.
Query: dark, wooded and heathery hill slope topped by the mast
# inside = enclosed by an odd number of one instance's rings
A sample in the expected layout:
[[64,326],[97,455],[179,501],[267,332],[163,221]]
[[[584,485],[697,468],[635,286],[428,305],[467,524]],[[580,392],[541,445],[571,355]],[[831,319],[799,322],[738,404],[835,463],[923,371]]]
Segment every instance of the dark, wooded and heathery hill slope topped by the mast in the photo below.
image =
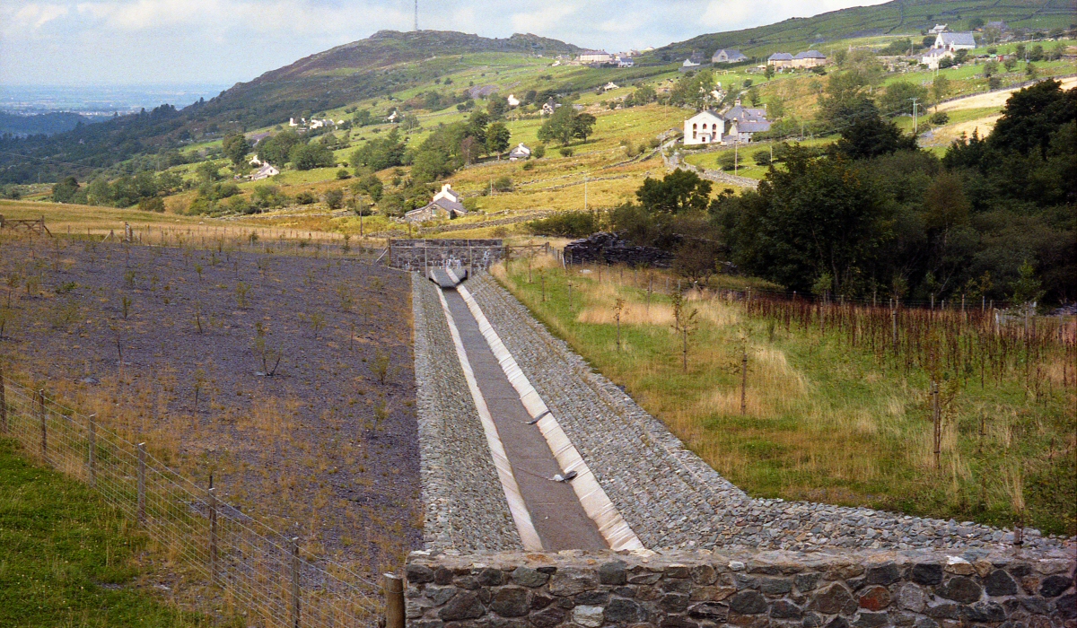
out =
[[25,182],[39,175],[45,180],[60,173],[84,176],[140,153],[181,148],[206,136],[270,126],[364,98],[388,97],[468,67],[466,55],[531,57],[578,50],[534,34],[490,39],[450,31],[379,31],[237,83],[183,110],[166,104],[50,138],[0,139],[0,181]]

